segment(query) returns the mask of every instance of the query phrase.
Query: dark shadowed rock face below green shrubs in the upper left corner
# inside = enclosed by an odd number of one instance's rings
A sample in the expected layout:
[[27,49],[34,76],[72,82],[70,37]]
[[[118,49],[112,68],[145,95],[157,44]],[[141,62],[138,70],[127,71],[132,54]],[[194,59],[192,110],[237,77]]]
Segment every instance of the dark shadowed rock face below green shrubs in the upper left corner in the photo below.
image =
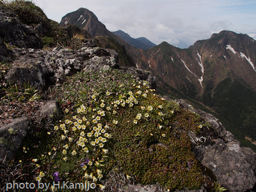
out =
[[17,47],[42,48],[42,40],[32,27],[23,24],[13,11],[0,6],[0,37]]

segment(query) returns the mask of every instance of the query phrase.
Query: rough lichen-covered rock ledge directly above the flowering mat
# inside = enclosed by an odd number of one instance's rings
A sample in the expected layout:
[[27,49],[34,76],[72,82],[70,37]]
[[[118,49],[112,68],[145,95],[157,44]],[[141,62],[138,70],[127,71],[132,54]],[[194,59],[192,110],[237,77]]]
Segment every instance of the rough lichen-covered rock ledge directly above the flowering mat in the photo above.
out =
[[117,52],[113,49],[94,47],[93,41],[90,40],[77,51],[63,47],[56,47],[52,51],[15,48],[13,57],[18,66],[7,73],[5,78],[9,82],[23,84],[28,81],[33,86],[43,87],[58,84],[66,76],[71,76],[80,70],[115,68],[125,73],[135,74],[139,81],[148,81],[152,89],[156,87],[155,79],[150,72],[119,67]]

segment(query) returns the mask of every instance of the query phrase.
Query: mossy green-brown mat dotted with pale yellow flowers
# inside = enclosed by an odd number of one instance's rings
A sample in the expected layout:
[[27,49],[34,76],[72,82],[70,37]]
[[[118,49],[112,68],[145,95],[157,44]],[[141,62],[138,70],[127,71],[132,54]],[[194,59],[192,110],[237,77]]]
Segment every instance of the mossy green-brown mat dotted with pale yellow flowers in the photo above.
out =
[[59,172],[60,181],[95,182],[103,189],[115,172],[170,190],[205,182],[187,133],[200,132],[199,115],[156,95],[147,82],[112,69],[79,72],[51,97],[64,116],[28,131],[14,160],[24,174],[18,181],[52,183]]

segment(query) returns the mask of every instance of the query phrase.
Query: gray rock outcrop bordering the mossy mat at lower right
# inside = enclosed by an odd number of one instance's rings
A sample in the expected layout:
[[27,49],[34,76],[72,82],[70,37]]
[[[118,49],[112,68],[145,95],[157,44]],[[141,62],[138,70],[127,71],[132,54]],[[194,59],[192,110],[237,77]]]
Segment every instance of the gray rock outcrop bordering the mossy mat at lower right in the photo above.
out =
[[217,134],[217,138],[205,138],[193,149],[201,164],[212,170],[221,186],[230,191],[253,189],[256,182],[256,153],[250,148],[241,147],[240,142],[213,115],[196,110],[184,100],[177,103],[199,114]]

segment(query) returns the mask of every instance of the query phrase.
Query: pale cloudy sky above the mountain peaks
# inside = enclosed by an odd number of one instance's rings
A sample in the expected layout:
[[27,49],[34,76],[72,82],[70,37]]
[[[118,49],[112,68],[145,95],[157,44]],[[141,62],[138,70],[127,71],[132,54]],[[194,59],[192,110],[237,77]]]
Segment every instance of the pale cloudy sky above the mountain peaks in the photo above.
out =
[[109,31],[167,41],[187,48],[213,33],[230,30],[256,39],[255,0],[33,0],[49,19],[60,22],[68,12],[84,7]]

